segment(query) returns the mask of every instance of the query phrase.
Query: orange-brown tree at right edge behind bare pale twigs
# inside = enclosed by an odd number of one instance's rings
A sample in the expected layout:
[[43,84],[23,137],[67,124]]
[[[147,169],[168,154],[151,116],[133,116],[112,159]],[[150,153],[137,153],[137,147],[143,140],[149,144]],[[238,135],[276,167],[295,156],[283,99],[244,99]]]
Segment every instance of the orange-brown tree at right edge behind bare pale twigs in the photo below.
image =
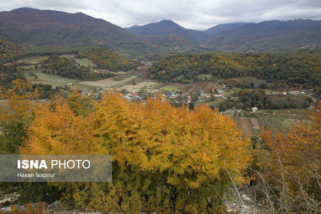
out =
[[286,134],[262,134],[271,155],[264,174],[280,212],[321,211],[321,103],[309,124],[295,123]]

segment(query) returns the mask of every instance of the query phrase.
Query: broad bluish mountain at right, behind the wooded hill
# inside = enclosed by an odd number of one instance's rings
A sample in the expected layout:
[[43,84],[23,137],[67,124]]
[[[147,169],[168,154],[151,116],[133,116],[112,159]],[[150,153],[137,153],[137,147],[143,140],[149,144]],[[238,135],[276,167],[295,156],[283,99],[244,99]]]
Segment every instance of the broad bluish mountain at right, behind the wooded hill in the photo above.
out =
[[246,24],[212,37],[205,45],[227,51],[288,51],[321,44],[321,21],[264,21]]

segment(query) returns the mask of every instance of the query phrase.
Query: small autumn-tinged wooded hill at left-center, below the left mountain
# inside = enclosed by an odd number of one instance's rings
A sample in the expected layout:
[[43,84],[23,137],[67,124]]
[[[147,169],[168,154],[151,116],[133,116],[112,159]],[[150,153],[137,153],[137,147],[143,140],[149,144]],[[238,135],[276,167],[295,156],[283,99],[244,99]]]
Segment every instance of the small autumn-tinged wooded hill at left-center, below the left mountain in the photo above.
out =
[[[78,57],[81,58],[82,56]],[[92,60],[99,69],[105,69],[112,72],[128,71],[140,66],[139,62],[102,48],[88,48],[83,57]]]

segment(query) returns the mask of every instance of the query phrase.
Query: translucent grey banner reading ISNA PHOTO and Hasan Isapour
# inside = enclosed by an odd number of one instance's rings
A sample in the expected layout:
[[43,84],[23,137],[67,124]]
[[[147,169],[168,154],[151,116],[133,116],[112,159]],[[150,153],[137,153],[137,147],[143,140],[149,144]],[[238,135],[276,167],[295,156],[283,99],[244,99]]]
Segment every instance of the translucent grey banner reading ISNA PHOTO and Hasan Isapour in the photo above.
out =
[[111,155],[0,155],[0,182],[111,182]]

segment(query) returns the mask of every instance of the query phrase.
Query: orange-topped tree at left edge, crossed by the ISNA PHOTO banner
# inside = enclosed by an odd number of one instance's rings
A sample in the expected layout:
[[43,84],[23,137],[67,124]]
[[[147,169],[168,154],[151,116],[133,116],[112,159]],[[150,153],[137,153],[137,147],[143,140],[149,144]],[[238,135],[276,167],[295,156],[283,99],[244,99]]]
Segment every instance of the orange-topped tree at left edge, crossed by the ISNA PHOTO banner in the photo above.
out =
[[[34,120],[39,93],[37,88],[23,80],[13,81],[13,88],[2,94],[8,108],[0,109],[1,154],[19,154],[19,147],[27,137],[27,129]],[[16,194],[16,202],[52,202],[60,197],[60,191],[47,183],[0,182],[0,199],[6,194]]]

